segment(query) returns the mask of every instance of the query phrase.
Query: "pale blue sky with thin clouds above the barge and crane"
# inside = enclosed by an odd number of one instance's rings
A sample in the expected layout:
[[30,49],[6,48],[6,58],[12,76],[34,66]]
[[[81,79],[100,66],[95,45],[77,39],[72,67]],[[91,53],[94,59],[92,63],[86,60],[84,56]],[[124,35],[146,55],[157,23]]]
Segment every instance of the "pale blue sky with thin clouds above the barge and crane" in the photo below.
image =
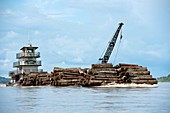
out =
[[39,47],[44,71],[90,68],[120,22],[123,38],[109,63],[144,66],[153,77],[170,74],[169,0],[0,0],[0,76],[15,70],[28,40]]

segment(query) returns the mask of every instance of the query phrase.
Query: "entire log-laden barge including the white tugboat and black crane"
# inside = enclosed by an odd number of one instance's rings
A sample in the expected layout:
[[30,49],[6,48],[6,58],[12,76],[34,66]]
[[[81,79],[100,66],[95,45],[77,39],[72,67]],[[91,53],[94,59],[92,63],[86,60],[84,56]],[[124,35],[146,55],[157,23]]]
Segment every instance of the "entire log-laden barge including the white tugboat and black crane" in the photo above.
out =
[[[9,73],[10,84],[18,83],[20,86],[103,86],[112,83],[116,84],[157,84],[147,67],[136,64],[118,64],[113,66],[108,63],[111,52],[115,46],[123,23],[119,24],[115,35],[109,42],[109,46],[100,64],[92,64],[90,68],[60,68],[54,67],[51,73],[38,69],[41,66],[40,52],[35,52],[38,47],[31,44],[22,47],[21,53],[16,54],[18,62],[14,62],[16,71]],[[120,36],[120,40],[122,35]]]

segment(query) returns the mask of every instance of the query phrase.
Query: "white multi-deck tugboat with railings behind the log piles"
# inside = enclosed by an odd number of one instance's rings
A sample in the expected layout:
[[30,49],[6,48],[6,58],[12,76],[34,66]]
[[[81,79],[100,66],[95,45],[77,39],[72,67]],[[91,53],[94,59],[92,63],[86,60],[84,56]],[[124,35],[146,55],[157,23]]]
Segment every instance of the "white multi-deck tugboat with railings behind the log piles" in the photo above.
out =
[[43,72],[43,69],[38,69],[41,66],[41,60],[37,60],[37,58],[40,58],[40,52],[36,52],[37,48],[32,44],[28,44],[28,46],[23,46],[20,49],[20,53],[16,54],[18,61],[13,63],[13,67],[17,69],[9,72],[11,81],[8,85],[18,85],[18,82],[30,72]]

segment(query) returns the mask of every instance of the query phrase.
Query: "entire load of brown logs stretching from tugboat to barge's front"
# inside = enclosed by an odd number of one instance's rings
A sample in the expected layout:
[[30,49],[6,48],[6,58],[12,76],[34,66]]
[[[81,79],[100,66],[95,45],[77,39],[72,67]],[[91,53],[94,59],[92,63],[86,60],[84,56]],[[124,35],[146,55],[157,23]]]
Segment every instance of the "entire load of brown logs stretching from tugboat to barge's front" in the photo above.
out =
[[20,81],[22,86],[100,86],[108,83],[157,84],[146,67],[134,64],[92,64],[92,68],[59,68],[51,74],[30,73]]

